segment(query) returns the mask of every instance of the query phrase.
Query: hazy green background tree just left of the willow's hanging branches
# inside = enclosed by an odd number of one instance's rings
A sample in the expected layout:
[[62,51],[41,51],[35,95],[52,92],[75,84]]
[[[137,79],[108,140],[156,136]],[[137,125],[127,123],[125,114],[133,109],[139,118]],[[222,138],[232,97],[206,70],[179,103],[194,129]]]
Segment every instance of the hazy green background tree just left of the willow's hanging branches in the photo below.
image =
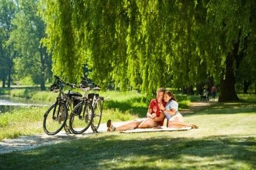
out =
[[51,76],[51,56],[40,42],[46,35],[45,24],[37,16],[38,1],[19,0],[17,3],[19,11],[12,20],[16,29],[12,30],[9,39],[19,53],[14,59],[16,76],[31,76],[33,83],[41,84],[41,90],[45,90],[45,79]]

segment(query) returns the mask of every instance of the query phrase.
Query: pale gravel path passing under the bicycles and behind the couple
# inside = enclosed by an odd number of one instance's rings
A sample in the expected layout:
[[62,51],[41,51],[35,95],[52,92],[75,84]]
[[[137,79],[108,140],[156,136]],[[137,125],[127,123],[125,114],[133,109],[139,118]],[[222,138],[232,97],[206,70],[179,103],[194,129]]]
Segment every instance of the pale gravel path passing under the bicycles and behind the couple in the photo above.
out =
[[[182,114],[192,114],[196,110],[201,110],[209,107],[212,101],[208,102],[194,102],[190,103],[190,107],[188,109],[180,110]],[[121,126],[123,124],[127,124],[128,122],[115,122],[114,126]],[[100,124],[98,129],[98,133],[106,132],[106,124]],[[39,146],[45,146],[49,144],[62,143],[64,141],[81,139],[88,137],[90,135],[94,135],[95,133],[91,130],[91,128],[87,129],[85,133],[81,135],[68,134],[65,131],[60,131],[60,133],[49,136],[44,134],[32,135],[32,136],[20,136],[16,139],[4,139],[0,142],[0,154],[20,151],[20,150],[30,150]]]

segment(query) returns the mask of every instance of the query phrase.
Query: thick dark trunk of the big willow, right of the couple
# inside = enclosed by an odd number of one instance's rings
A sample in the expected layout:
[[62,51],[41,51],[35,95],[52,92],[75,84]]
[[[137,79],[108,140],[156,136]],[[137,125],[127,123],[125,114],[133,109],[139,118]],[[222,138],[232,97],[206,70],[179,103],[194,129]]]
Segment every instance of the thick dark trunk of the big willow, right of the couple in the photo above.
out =
[[220,80],[219,102],[238,101],[234,78],[234,50],[226,58],[226,72],[223,71]]

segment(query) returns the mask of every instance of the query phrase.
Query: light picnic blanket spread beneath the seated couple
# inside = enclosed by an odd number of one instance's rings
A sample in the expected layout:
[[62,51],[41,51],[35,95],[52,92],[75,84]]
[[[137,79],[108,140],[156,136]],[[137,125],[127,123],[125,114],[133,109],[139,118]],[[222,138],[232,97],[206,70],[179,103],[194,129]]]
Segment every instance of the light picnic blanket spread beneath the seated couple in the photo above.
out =
[[191,127],[174,128],[174,127],[161,126],[161,129],[155,129],[155,128],[139,129],[138,128],[138,129],[121,131],[121,133],[142,133],[142,132],[153,132],[153,131],[187,131],[190,129],[192,128]]

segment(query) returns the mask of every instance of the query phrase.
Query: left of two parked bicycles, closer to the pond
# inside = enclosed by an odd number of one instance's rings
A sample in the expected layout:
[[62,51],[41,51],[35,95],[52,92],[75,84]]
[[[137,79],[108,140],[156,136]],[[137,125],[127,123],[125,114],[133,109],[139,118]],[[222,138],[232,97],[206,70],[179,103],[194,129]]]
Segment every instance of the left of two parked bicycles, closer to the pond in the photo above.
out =
[[47,135],[56,135],[63,127],[66,132],[70,132],[66,125],[68,119],[68,110],[72,109],[78,103],[83,95],[77,92],[64,93],[63,89],[66,86],[74,88],[74,84],[65,83],[58,76],[55,76],[55,81],[51,86],[51,92],[58,93],[56,102],[49,107],[44,114],[43,130]]

